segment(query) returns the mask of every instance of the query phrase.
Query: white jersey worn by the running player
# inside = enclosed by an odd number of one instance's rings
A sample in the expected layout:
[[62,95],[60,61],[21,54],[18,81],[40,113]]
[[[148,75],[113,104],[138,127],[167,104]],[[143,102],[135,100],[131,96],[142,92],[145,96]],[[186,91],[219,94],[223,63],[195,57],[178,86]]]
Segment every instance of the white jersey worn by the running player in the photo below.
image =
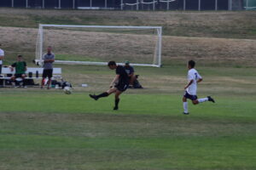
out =
[[189,88],[186,89],[188,94],[196,95],[196,88],[197,88],[197,80],[201,79],[200,74],[195,69],[190,69],[188,72],[188,82],[193,80],[192,84],[190,84]]

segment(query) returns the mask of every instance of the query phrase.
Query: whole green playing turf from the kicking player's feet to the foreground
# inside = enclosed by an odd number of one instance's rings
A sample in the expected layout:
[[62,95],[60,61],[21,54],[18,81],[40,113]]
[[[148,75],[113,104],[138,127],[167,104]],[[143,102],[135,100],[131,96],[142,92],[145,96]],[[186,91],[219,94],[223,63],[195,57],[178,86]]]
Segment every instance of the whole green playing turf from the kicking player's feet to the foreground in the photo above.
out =
[[112,111],[113,96],[45,93],[2,93],[1,169],[256,167],[254,97],[189,103],[184,116],[177,94],[123,94]]

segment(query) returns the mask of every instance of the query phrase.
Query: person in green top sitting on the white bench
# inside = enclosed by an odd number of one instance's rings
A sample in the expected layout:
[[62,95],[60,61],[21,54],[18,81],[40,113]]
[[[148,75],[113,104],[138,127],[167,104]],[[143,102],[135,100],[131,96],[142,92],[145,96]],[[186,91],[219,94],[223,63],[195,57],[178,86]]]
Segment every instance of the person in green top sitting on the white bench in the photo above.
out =
[[[15,75],[11,77],[13,84],[15,85],[16,78],[21,78],[23,82],[23,88],[26,88],[24,81],[26,77],[26,62],[23,61],[22,55],[18,55],[17,62],[15,62],[13,65],[10,65],[9,68],[11,71],[14,71],[15,68]],[[17,88],[17,86],[15,86],[15,88]]]

